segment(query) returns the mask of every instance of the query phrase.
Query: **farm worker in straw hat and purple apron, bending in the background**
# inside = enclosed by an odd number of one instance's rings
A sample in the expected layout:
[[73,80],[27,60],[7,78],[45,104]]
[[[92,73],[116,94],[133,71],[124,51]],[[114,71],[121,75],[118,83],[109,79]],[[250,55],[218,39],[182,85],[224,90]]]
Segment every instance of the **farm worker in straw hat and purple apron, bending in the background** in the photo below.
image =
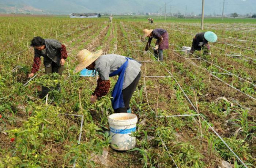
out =
[[148,42],[145,47],[144,54],[146,54],[146,51],[150,47],[151,41],[153,38],[157,39],[157,42],[155,43],[154,47],[154,53],[155,57],[159,59],[160,61],[163,61],[163,50],[164,49],[169,49],[169,35],[166,30],[162,28],[157,28],[157,29],[144,29],[143,30],[144,36],[143,38],[148,37]]

